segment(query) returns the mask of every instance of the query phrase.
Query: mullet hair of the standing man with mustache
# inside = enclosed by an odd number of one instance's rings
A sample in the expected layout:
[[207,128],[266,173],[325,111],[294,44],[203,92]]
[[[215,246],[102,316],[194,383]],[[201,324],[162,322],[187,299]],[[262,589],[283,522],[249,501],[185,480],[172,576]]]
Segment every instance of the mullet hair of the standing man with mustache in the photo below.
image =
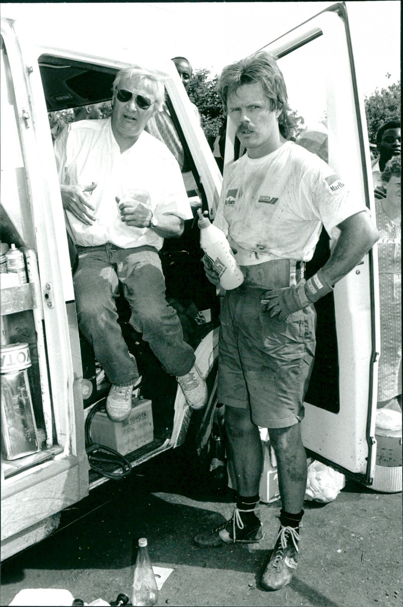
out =
[[261,83],[265,94],[270,100],[270,110],[281,110],[278,118],[279,131],[282,136],[289,138],[295,126],[295,120],[290,116],[287,87],[284,76],[277,65],[274,55],[261,50],[240,61],[224,67],[218,80],[218,94],[221,97],[224,112],[227,111],[229,95],[235,93],[242,84]]

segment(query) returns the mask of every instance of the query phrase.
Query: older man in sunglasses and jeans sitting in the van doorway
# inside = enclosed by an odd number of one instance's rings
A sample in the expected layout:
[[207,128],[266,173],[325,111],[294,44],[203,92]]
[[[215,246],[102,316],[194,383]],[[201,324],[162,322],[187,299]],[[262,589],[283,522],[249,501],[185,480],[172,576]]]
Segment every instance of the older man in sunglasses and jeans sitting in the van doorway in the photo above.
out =
[[[119,283],[131,324],[178,378],[190,407],[207,401],[193,349],[165,300],[158,255],[164,238],[181,236],[184,220],[192,218],[177,161],[144,131],[163,103],[162,81],[128,67],[113,83],[112,117],[72,123],[55,144],[67,229],[79,255],[73,277],[79,327],[112,384],[106,409],[115,422],[130,415],[139,383],[118,324]],[[133,189],[142,191],[140,202],[127,195]]]

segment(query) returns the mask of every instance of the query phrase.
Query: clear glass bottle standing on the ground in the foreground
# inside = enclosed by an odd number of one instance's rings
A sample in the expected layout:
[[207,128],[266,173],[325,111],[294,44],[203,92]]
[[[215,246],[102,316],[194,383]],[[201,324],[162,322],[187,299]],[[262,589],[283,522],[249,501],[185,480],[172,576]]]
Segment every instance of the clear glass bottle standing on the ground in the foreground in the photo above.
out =
[[158,587],[155,581],[153,566],[148,555],[147,540],[139,539],[139,549],[136,558],[135,574],[132,588],[132,605],[156,605],[158,602]]

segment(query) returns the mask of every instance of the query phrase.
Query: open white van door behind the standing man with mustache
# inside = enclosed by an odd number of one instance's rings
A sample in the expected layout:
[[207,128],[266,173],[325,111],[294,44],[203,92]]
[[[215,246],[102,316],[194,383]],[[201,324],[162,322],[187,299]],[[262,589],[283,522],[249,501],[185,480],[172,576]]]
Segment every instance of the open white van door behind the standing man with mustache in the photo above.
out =
[[[375,217],[367,125],[345,4],[326,8],[261,50],[278,58],[290,107],[304,119],[303,126],[319,132],[324,145],[316,147],[318,155]],[[234,160],[234,138],[228,126],[225,166]],[[322,232],[305,277],[324,265],[332,246]],[[301,424],[304,446],[318,459],[370,484],[380,351],[376,245],[336,284],[333,294],[319,300],[316,312],[315,367]]]

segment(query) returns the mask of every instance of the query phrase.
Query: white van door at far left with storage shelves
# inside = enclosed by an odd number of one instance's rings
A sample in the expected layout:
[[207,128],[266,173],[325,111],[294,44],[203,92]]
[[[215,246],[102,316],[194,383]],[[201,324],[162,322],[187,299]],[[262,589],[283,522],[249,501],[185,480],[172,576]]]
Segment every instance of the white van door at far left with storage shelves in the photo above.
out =
[[[45,537],[59,511],[88,494],[88,463],[67,237],[61,206],[54,208],[60,193],[50,171],[52,140],[45,107],[36,103],[38,74],[10,21],[1,24],[0,59],[1,239],[24,251],[27,265],[27,283],[7,287],[4,280],[1,290],[1,554],[7,558]],[[27,406],[28,396],[7,392],[12,379],[3,355],[21,342],[30,354],[35,416],[33,438],[22,447],[30,422],[19,407],[23,398]]]

